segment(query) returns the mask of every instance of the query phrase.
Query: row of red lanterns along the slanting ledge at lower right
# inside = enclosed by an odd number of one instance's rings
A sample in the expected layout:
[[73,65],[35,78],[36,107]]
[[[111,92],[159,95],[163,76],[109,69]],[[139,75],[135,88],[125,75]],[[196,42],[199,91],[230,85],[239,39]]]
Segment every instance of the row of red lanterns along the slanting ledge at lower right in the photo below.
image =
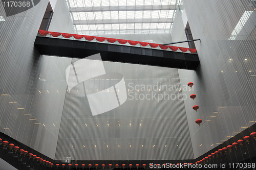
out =
[[[250,134],[251,137],[253,137],[254,140],[256,140],[256,132],[252,132]],[[243,138],[248,144],[249,144],[249,140],[250,140],[250,137],[249,136],[245,136]],[[228,145],[227,147],[224,147],[222,149],[219,149],[218,151],[215,151],[214,153],[211,153],[210,155],[206,156],[205,158],[203,158],[202,160],[200,161],[197,161],[196,163],[202,163],[202,162],[205,162],[205,160],[208,161],[208,159],[211,159],[215,157],[215,155],[217,157],[219,157],[219,154],[222,155],[223,151],[225,152],[225,154],[227,154],[227,151],[229,150],[230,152],[232,152],[232,149],[235,148],[237,150],[238,148],[238,145],[240,144],[241,147],[243,147],[243,143],[244,143],[244,140],[243,139],[239,139],[237,142],[233,142],[232,145]]]

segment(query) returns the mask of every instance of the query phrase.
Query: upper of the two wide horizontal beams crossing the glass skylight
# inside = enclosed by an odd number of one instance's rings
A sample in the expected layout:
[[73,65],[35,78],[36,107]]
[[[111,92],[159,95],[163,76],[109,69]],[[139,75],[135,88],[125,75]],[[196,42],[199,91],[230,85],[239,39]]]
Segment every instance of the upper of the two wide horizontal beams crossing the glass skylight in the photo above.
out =
[[106,7],[75,7],[70,12],[101,12],[101,11],[152,11],[175,10],[175,5],[139,5],[139,6],[106,6]]

